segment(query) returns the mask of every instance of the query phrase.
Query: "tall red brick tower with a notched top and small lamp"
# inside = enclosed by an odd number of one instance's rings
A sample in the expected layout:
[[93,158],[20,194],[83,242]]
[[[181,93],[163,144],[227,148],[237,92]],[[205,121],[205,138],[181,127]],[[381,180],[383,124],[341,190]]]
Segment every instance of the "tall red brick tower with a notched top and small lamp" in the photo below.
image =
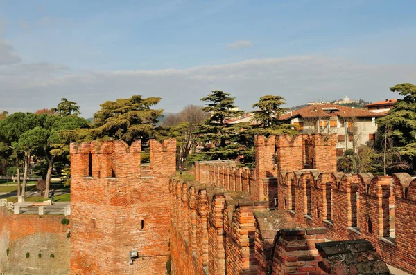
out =
[[144,166],[140,140],[71,144],[71,274],[166,273],[175,151],[150,140]]

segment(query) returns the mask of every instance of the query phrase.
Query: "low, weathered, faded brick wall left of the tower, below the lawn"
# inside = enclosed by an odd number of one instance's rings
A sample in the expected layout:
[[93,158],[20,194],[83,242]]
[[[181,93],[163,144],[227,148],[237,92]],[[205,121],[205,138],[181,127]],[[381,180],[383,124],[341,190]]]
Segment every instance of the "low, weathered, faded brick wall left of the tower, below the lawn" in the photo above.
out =
[[[6,211],[6,207],[0,207],[0,273],[38,275],[53,271],[54,274],[69,274],[71,239],[67,238],[67,233],[71,225],[62,225],[62,218],[58,215],[14,215]],[[71,216],[67,218],[71,222]],[[26,258],[27,252],[29,258]]]

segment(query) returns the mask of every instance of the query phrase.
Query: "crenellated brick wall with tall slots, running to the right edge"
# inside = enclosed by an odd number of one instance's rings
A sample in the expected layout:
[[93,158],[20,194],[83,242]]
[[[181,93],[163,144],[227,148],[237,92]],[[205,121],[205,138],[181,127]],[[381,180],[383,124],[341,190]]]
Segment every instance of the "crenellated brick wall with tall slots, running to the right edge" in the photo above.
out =
[[[370,173],[284,173],[279,177],[278,206],[284,209],[286,205],[289,214],[300,226],[325,227],[327,238],[331,240],[365,238],[386,263],[415,273],[416,224],[411,215],[416,210],[416,196],[413,195],[416,184],[412,185],[413,178],[408,174],[394,174],[395,199],[392,200],[390,178]],[[310,195],[308,184],[305,184],[308,179],[312,184]],[[295,210],[291,210],[293,182]],[[308,196],[312,199],[311,215],[306,214]],[[391,210],[391,202],[395,203],[394,211]],[[394,229],[395,234],[390,234],[390,229]]]

